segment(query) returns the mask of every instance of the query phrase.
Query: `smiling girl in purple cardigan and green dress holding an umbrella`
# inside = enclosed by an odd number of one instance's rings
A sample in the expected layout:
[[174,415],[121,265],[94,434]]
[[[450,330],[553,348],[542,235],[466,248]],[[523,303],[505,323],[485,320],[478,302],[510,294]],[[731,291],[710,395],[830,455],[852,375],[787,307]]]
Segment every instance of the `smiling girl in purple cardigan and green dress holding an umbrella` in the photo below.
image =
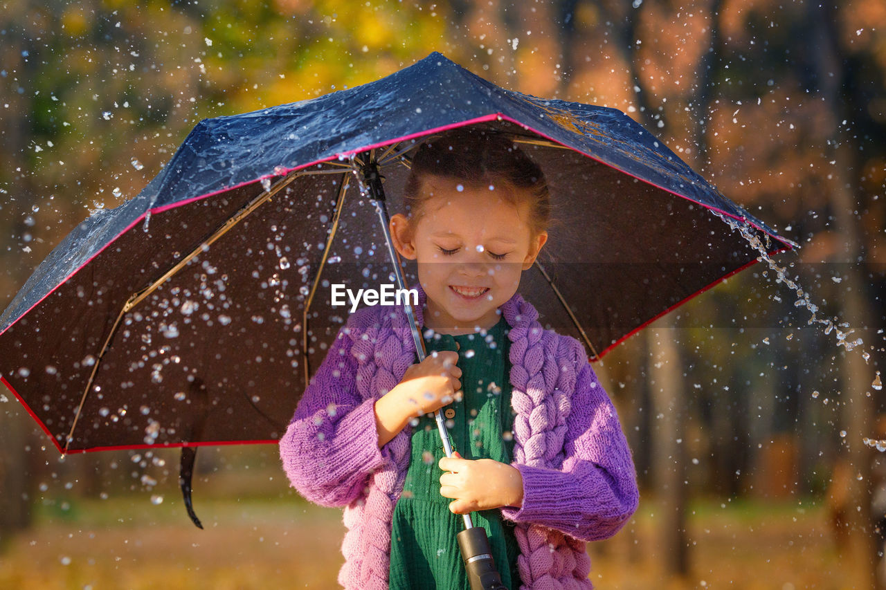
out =
[[467,590],[468,512],[505,586],[590,588],[585,544],[618,532],[638,492],[584,347],[517,293],[548,238],[544,176],[505,136],[462,128],[418,149],[404,200],[390,229],[416,260],[428,356],[402,307],[352,314],[280,441],[291,484],[345,507],[346,588]]

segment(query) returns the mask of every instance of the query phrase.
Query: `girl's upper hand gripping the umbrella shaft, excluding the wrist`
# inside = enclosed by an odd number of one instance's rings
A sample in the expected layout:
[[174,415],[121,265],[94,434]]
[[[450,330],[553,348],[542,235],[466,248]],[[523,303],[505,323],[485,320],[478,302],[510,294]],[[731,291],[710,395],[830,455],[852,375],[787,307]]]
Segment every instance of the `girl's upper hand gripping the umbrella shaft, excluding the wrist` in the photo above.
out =
[[462,389],[462,369],[455,364],[458,353],[433,352],[406,369],[400,383],[391,391],[407,401],[408,417],[435,412],[455,399]]

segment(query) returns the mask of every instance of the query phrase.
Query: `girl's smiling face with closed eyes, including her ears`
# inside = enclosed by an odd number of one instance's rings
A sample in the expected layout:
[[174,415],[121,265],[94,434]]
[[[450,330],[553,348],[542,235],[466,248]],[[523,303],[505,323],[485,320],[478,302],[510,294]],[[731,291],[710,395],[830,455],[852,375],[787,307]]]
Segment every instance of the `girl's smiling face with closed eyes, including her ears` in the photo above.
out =
[[517,292],[522,272],[548,239],[547,232],[530,235],[529,204],[511,205],[501,197],[504,190],[511,189],[429,175],[414,235],[404,215],[391,218],[394,247],[417,262],[427,295],[425,327],[453,335],[492,328],[496,309]]

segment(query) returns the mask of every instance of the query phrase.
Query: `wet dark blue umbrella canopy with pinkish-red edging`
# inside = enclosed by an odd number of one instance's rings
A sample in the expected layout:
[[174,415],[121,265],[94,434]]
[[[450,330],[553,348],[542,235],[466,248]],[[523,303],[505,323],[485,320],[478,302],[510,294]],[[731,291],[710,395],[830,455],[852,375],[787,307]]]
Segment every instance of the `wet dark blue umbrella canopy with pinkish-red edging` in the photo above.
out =
[[[556,218],[520,291],[597,359],[789,248],[624,113],[501,89],[432,53],[354,89],[203,120],[136,197],[83,221],[0,316],[0,374],[60,451],[276,443],[346,321],[392,283],[354,171],[392,211],[426,136],[481,125],[540,164]],[[415,268],[406,268],[415,283]]]

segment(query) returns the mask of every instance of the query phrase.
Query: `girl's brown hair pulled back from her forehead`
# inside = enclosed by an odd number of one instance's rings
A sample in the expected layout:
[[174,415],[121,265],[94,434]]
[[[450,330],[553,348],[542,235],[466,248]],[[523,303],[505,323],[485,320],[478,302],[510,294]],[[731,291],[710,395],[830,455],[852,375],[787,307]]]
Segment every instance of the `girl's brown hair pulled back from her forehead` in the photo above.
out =
[[[548,182],[538,164],[501,132],[465,127],[433,136],[424,142],[412,159],[403,204],[409,229],[413,230],[424,213],[422,182],[425,175],[437,175],[477,186],[504,184],[502,196],[513,205],[529,203],[529,229],[532,236],[548,229],[551,205]],[[513,195],[513,197],[511,197]]]

